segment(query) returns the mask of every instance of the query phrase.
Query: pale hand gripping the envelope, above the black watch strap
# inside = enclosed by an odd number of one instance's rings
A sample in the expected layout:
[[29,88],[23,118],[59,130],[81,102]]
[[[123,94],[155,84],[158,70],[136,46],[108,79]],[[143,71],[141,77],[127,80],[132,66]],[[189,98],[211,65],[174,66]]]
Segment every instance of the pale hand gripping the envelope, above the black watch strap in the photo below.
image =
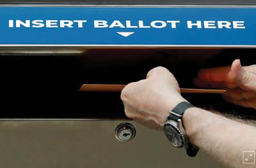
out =
[[164,67],[151,69],[145,80],[129,83],[122,90],[121,99],[127,117],[158,130],[163,130],[169,111],[186,101],[180,95],[177,80]]

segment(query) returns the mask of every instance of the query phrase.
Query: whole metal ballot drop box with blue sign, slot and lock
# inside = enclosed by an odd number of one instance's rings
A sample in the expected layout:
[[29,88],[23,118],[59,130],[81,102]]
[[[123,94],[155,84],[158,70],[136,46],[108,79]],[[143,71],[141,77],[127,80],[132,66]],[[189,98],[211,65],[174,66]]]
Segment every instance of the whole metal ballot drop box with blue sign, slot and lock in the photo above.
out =
[[[255,64],[254,1],[0,3],[3,167],[218,167],[127,118],[122,88],[92,86],[122,87],[163,66],[195,90],[200,69]],[[219,91],[182,96],[254,120]]]

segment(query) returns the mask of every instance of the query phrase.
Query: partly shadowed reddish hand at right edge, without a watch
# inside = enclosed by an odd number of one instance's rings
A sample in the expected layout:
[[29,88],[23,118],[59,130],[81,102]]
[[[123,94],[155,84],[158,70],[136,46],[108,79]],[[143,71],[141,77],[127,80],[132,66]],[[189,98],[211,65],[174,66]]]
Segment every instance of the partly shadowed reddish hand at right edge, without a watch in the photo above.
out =
[[256,109],[256,65],[242,67],[240,60],[234,60],[231,67],[202,69],[194,83],[198,87],[227,88],[223,99]]

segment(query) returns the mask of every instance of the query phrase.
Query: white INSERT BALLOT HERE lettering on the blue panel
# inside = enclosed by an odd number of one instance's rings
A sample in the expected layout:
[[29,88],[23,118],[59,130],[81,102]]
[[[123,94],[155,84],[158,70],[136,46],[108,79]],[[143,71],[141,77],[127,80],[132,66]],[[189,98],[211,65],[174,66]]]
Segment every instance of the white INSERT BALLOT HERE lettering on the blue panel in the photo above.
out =
[[186,25],[188,29],[245,29],[243,20],[8,20],[9,28],[79,28],[86,29],[92,22],[95,29],[179,29]]

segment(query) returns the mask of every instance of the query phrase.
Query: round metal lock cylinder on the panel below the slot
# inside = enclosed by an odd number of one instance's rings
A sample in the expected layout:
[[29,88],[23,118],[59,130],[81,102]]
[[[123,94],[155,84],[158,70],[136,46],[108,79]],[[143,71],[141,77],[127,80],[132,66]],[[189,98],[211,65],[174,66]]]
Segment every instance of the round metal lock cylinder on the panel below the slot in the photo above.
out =
[[116,139],[122,142],[131,141],[136,135],[135,127],[131,123],[120,123],[116,126]]

